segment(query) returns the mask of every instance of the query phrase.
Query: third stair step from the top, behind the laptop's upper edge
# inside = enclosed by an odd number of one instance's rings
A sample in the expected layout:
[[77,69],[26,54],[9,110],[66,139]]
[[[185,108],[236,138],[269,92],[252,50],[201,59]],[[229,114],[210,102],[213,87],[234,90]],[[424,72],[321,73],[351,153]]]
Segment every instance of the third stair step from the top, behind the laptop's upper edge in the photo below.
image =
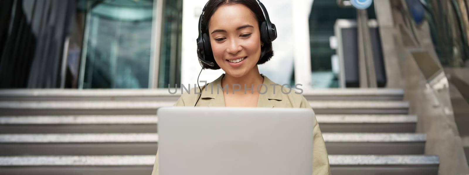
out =
[[[412,115],[328,115],[316,119],[322,132],[413,133]],[[156,133],[156,115],[0,116],[0,133]]]

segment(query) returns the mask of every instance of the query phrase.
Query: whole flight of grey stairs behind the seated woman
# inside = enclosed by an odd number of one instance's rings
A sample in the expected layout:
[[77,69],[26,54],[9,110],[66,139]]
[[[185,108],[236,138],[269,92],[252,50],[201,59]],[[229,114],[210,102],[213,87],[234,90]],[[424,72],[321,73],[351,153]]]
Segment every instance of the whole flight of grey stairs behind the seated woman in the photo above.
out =
[[[167,90],[1,90],[0,175],[151,173]],[[333,175],[436,175],[398,89],[315,90]]]

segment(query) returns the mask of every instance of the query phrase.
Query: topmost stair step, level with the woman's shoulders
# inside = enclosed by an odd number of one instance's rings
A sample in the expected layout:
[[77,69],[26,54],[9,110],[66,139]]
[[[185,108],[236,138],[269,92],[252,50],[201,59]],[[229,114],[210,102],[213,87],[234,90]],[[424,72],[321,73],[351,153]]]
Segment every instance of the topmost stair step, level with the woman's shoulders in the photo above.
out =
[[[174,88],[171,89],[174,91]],[[186,93],[184,91],[184,93]],[[181,96],[180,89],[170,94],[167,89],[6,89],[0,90],[0,101],[176,101]],[[402,100],[402,89],[316,89],[304,91],[308,100]]]

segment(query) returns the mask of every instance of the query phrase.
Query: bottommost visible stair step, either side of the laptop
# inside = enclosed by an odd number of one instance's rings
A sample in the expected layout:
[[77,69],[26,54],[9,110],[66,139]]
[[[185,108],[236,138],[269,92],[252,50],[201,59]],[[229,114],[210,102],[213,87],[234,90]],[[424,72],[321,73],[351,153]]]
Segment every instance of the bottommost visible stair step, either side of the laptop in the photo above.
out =
[[[0,156],[5,174],[150,174],[155,155]],[[435,155],[329,155],[333,175],[438,175]]]

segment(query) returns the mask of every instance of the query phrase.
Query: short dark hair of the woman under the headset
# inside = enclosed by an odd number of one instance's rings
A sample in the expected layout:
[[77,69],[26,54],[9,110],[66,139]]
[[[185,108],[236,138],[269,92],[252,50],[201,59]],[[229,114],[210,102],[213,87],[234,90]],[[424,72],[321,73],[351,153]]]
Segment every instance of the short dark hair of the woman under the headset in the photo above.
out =
[[[248,7],[256,17],[257,23],[259,28],[261,27],[261,23],[265,21],[264,14],[262,13],[261,7],[257,4],[256,0],[209,0],[207,6],[205,7],[204,19],[202,20],[202,33],[208,33],[208,24],[210,18],[212,18],[213,13],[218,9],[218,7],[225,5],[225,4],[242,4]],[[259,32],[260,33],[260,32]],[[272,50],[272,42],[271,43],[264,43],[264,46],[261,47],[261,55],[259,57],[259,61],[257,64],[263,64],[270,60],[273,56]],[[207,61],[214,63],[215,65],[209,66],[207,64],[202,63],[200,60],[199,62],[204,66],[203,69],[212,69],[218,70],[220,66],[215,62],[215,58],[208,58]]]

